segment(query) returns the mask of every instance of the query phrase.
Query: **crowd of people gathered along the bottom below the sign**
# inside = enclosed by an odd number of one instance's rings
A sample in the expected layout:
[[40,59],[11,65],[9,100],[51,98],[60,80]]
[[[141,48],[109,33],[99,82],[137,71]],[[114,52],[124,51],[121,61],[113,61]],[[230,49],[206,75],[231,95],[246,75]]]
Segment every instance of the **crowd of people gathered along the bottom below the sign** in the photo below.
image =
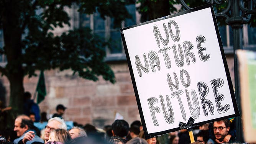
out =
[[[26,93],[28,95],[28,93]],[[27,98],[31,97],[28,95]],[[28,103],[33,105],[29,99]],[[36,107],[36,106],[35,106]],[[97,128],[92,124],[77,124],[67,128],[62,118],[66,107],[57,105],[52,118],[46,118],[46,113],[41,113],[38,119],[37,111],[30,111],[16,117],[14,129],[0,133],[10,144],[190,144],[189,132],[185,129],[164,134],[162,136],[145,139],[140,121],[133,121],[130,125],[123,119],[113,121],[112,125]],[[34,121],[45,122],[46,126],[38,128]],[[39,130],[41,129],[41,131]],[[213,123],[198,126],[194,131],[193,144],[222,144],[235,142],[235,119],[224,119]],[[0,138],[1,138],[0,137]],[[15,138],[14,138],[15,137]],[[3,141],[0,141],[3,144]]]

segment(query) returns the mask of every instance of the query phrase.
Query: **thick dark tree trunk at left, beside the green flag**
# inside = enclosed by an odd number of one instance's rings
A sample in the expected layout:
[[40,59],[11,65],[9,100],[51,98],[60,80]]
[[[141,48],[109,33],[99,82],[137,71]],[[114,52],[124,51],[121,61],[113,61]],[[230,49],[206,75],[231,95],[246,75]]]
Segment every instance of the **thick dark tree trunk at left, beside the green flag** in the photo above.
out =
[[23,114],[23,77],[24,70],[22,67],[22,52],[21,52],[21,35],[22,26],[20,13],[16,11],[20,5],[16,0],[6,1],[5,10],[3,11],[3,35],[4,35],[4,51],[7,57],[7,65],[1,71],[7,76],[10,82],[10,103],[12,107],[11,113],[7,121],[8,126],[14,126],[13,118]]

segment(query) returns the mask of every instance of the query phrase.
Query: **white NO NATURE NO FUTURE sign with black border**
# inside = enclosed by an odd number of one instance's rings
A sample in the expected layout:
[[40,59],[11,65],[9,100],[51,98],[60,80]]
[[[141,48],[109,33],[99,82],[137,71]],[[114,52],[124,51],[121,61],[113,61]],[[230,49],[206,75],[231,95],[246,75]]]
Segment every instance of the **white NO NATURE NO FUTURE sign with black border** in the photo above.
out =
[[146,138],[239,115],[211,6],[121,29]]

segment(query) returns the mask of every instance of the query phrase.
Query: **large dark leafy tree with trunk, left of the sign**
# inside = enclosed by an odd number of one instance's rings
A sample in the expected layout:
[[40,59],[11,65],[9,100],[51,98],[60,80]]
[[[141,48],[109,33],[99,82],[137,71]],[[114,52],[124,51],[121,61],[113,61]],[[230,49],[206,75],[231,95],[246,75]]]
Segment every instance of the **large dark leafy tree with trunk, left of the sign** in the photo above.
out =
[[[120,0],[1,0],[0,29],[4,47],[0,54],[7,57],[7,65],[0,72],[10,82],[10,106],[14,116],[23,113],[23,78],[35,76],[36,70],[72,69],[74,74],[89,80],[115,82],[113,71],[104,62],[107,42],[79,28],[54,36],[57,26],[69,24],[64,7],[79,6],[82,13],[98,11],[102,18],[110,16],[118,27],[130,15],[125,8],[133,1]],[[134,2],[135,3],[135,2]]]

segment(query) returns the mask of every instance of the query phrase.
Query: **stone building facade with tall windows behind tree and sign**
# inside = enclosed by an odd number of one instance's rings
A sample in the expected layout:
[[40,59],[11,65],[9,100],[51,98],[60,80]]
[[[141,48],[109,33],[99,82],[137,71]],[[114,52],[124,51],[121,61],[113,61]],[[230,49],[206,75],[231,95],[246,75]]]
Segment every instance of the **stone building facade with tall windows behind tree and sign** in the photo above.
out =
[[[75,9],[75,7],[67,9],[69,15],[72,17],[71,27],[64,27],[64,29],[57,28],[55,34],[60,34],[63,30],[67,31],[81,25],[90,26],[91,29],[94,29],[95,33],[102,33],[101,27],[98,25],[102,22],[102,25],[104,25],[103,35],[106,38],[115,36],[115,34],[120,37],[119,30],[112,29],[110,18],[107,18],[105,21],[97,21],[97,25],[95,25],[94,22],[97,15],[79,15]],[[136,12],[135,5],[131,7],[131,10],[134,10],[133,14],[135,15],[133,23],[139,23],[139,15]],[[87,19],[83,21],[81,18]],[[127,23],[131,25],[131,21]],[[125,24],[123,25],[126,26]],[[220,28],[220,31],[222,30],[223,29]],[[224,30],[230,31],[228,27]],[[249,30],[247,31],[250,32]],[[244,33],[244,35],[249,34]],[[256,36],[254,36],[254,38],[256,38]],[[224,40],[226,44],[223,42],[223,45],[225,47],[228,68],[234,86],[233,47],[230,44],[230,39],[232,39],[232,37],[230,37],[229,33],[226,33],[226,40]],[[121,39],[118,44],[122,47]],[[249,45],[250,41],[247,39],[247,41],[244,41],[244,44]],[[65,120],[75,121],[80,124],[90,123],[100,128],[106,124],[112,124],[116,113],[122,115],[129,124],[134,120],[140,120],[124,50],[121,48],[120,51],[111,51],[109,49],[106,51],[106,61],[110,64],[115,73],[115,84],[107,82],[101,77],[97,82],[85,80],[77,75],[72,75],[71,70],[62,72],[58,69],[44,71],[47,95],[44,101],[39,104],[41,112],[46,111],[48,115],[51,115],[56,112],[56,105],[61,103],[67,107],[66,113],[63,116]],[[37,74],[39,75],[39,71]],[[0,77],[0,80],[6,88],[8,104],[10,84],[6,77]],[[38,77],[25,77],[25,91],[29,91],[34,95],[37,82]]]

